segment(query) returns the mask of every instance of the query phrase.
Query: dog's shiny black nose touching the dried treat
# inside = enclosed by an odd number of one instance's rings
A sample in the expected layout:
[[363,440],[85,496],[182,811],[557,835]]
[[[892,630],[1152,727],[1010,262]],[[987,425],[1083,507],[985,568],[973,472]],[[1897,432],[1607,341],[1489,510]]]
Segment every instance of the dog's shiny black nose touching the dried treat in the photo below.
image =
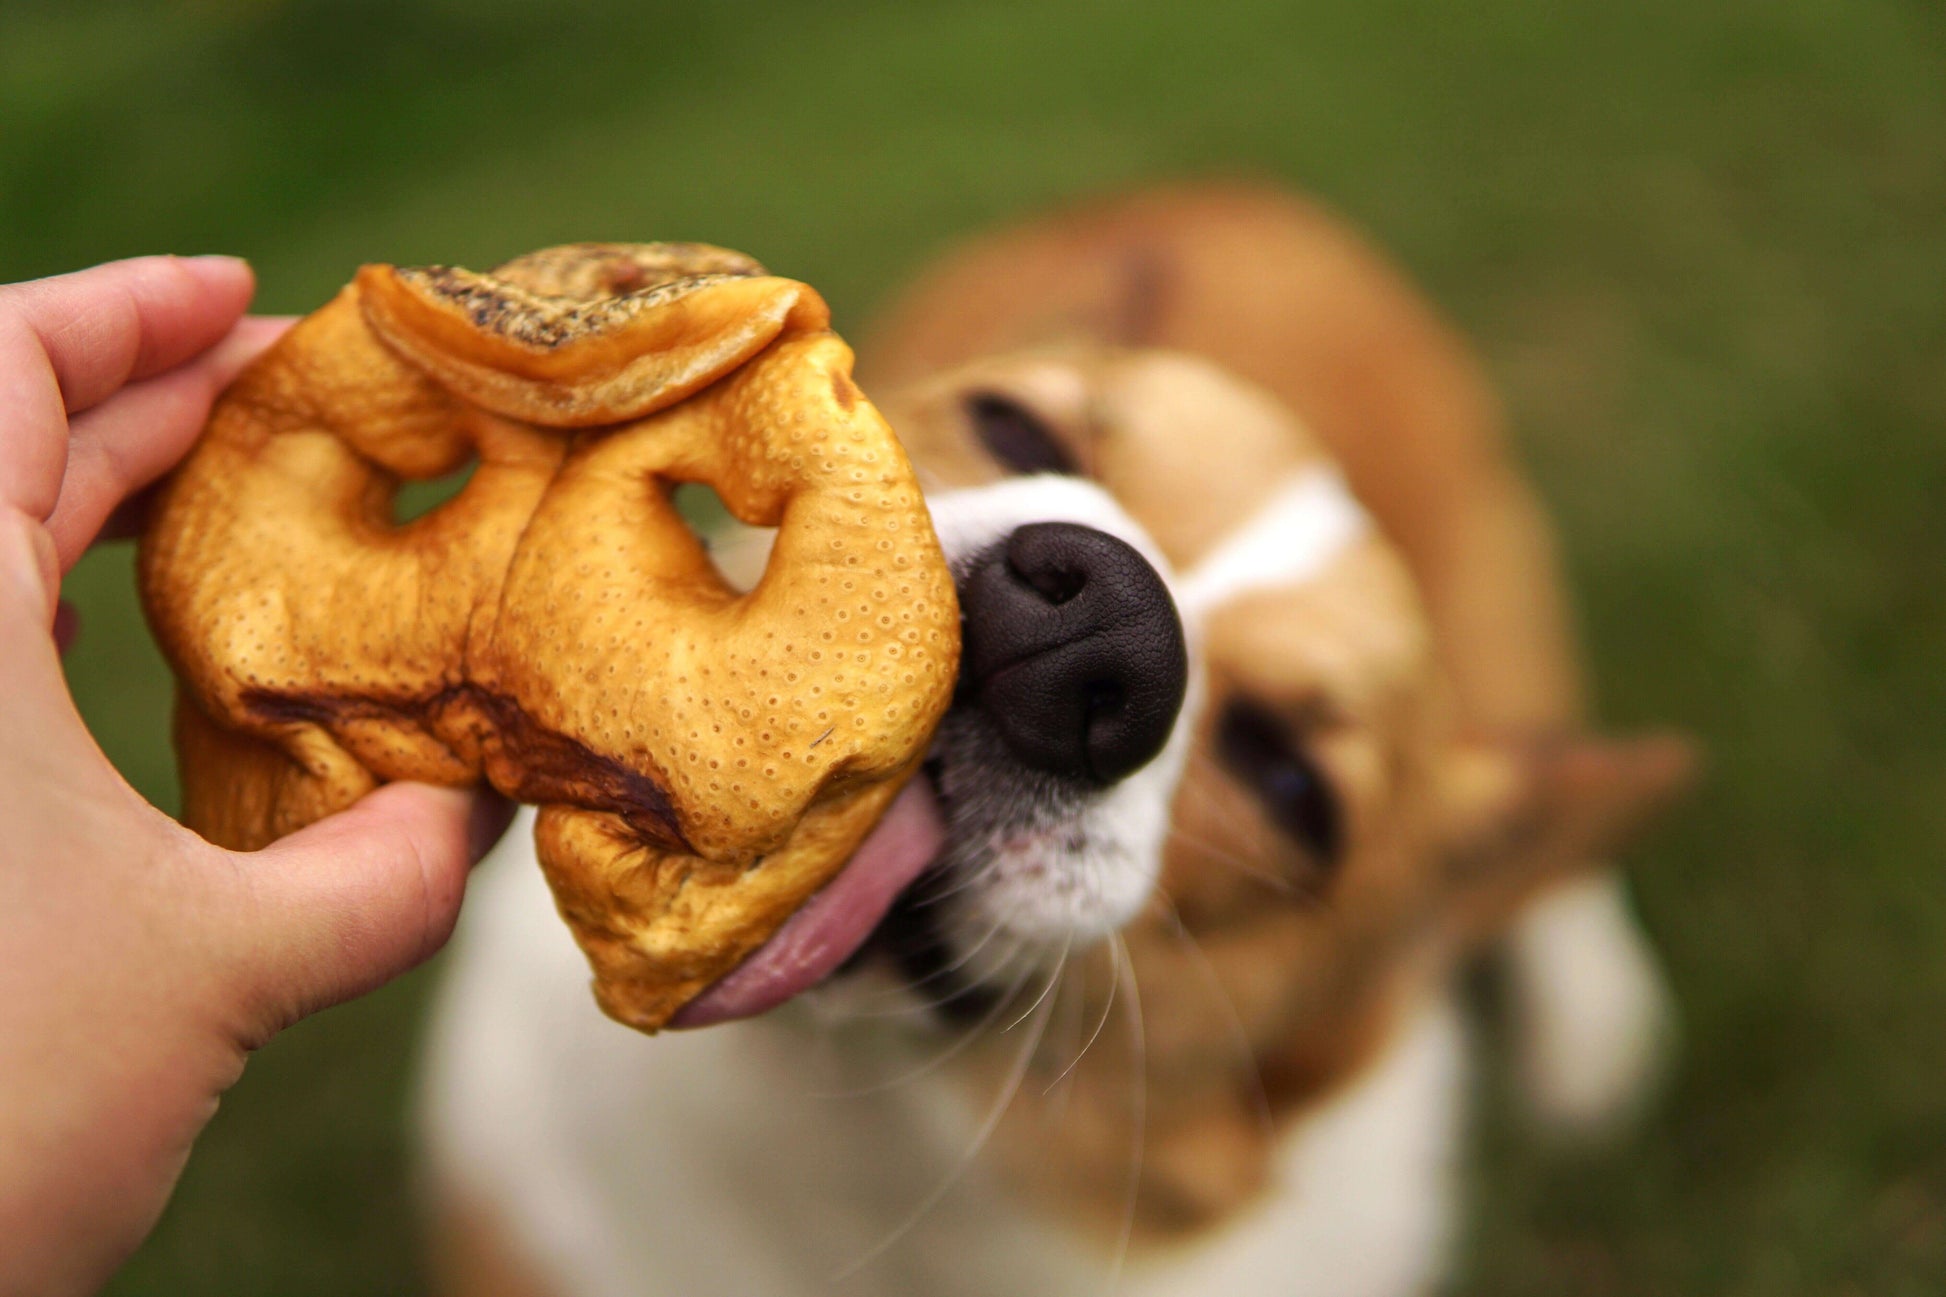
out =
[[1189,686],[1170,588],[1127,541],[1018,528],[965,578],[961,687],[1024,763],[1115,783],[1170,740]]

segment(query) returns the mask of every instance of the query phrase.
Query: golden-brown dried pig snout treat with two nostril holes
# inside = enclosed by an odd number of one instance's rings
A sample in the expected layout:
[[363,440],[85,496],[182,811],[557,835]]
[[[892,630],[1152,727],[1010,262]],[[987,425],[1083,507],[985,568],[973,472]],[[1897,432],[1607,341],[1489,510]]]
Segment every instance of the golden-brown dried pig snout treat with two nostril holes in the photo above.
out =
[[[843,867],[952,691],[952,576],[827,323],[693,243],[364,267],[218,401],[144,536],[185,822],[257,847],[389,779],[486,779],[541,804],[601,1007],[662,1026]],[[393,522],[401,479],[469,462]],[[683,481],[778,528],[747,594]]]

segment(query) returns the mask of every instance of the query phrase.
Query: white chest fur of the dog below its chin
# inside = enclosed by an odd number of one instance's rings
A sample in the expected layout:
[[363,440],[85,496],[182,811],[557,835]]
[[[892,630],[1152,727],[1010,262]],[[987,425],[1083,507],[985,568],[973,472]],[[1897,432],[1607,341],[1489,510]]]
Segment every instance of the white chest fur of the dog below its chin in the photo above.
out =
[[1082,1295],[1117,1279],[1129,1297],[1393,1297],[1440,1272],[1465,1077],[1444,1001],[1304,1122],[1245,1217],[1113,1276],[977,1163],[954,1178],[983,1114],[924,1077],[899,1083],[940,1042],[811,1003],[658,1040],[603,1019],[527,816],[473,878],[422,1130],[432,1172],[483,1194],[562,1293]]

